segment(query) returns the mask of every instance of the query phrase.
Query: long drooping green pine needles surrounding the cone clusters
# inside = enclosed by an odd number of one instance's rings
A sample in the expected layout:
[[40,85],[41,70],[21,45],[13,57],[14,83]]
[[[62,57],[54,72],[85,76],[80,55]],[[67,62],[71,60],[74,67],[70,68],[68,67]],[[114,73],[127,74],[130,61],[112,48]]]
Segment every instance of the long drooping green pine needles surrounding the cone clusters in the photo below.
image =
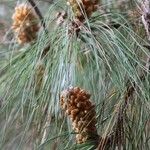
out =
[[[150,52],[144,47],[149,43],[144,27],[137,27],[142,34],[135,31],[126,10],[120,12],[115,4],[117,1],[101,4],[77,35],[68,33],[73,19],[71,9],[65,1],[56,1],[47,6],[44,14],[48,34],[41,30],[36,42],[21,48],[15,43],[6,50],[7,57],[0,60],[1,149],[28,149],[28,146],[31,149],[92,149],[92,144],[75,143],[70,120],[60,109],[60,92],[79,86],[91,93],[97,106],[98,132],[103,137],[114,132],[118,109],[124,107],[127,89],[133,85],[135,91],[123,115],[123,147],[150,149],[150,72],[146,71]],[[127,9],[135,7],[126,5],[130,6]],[[108,12],[102,12],[102,7]],[[61,26],[56,25],[58,9],[69,14]],[[48,45],[48,52],[43,56]],[[42,64],[45,71],[43,85],[37,91],[38,64]]]

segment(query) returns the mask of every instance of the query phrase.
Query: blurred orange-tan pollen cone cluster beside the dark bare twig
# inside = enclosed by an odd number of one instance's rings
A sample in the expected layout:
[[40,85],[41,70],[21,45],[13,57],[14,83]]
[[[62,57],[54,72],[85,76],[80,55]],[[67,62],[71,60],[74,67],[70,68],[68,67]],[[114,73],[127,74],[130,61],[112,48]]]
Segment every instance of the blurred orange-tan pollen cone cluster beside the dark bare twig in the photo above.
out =
[[12,29],[20,44],[29,43],[36,39],[39,30],[38,19],[30,6],[27,4],[18,5],[12,19]]

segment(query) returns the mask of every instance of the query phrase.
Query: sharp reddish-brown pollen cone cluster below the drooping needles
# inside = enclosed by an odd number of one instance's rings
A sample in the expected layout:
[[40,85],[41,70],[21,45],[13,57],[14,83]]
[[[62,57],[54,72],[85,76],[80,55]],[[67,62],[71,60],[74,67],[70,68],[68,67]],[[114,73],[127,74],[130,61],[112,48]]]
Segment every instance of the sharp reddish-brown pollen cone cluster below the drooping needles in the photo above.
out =
[[78,144],[98,139],[95,105],[90,94],[79,87],[70,88],[61,94],[60,104],[72,121]]

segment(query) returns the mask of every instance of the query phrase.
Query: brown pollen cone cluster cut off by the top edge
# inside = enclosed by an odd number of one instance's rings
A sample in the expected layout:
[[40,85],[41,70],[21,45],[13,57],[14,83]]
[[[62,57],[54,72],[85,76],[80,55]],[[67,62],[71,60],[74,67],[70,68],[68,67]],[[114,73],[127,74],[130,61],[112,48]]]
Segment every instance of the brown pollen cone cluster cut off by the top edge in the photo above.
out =
[[96,11],[98,3],[99,0],[67,0],[67,4],[72,7],[76,19],[81,22],[86,16],[90,17]]

